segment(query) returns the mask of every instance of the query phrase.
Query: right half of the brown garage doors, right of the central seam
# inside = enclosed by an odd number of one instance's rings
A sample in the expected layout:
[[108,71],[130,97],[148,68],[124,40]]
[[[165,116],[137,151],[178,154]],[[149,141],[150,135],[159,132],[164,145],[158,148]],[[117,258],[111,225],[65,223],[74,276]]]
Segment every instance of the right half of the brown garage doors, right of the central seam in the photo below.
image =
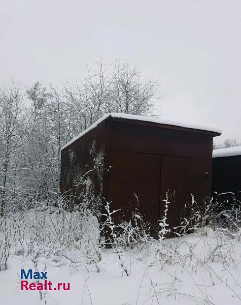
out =
[[185,202],[191,196],[202,207],[211,193],[211,160],[162,156],[160,177],[160,212],[164,210],[168,192],[169,217],[173,226],[179,225]]

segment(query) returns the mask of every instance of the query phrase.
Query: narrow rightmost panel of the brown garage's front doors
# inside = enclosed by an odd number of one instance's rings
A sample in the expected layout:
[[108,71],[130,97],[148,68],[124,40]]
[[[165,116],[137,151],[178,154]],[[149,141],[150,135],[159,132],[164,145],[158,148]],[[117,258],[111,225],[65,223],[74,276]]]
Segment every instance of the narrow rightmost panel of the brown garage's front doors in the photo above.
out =
[[187,159],[187,201],[191,194],[199,206],[211,195],[212,160]]

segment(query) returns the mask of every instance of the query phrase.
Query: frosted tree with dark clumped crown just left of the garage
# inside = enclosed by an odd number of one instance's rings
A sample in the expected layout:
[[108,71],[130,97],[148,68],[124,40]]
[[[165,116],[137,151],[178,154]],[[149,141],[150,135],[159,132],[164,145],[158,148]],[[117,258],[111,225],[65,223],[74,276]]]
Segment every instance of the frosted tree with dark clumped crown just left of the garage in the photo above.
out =
[[59,181],[62,113],[56,90],[47,90],[40,82],[26,90],[31,107],[25,111],[24,190],[26,196],[49,199]]

